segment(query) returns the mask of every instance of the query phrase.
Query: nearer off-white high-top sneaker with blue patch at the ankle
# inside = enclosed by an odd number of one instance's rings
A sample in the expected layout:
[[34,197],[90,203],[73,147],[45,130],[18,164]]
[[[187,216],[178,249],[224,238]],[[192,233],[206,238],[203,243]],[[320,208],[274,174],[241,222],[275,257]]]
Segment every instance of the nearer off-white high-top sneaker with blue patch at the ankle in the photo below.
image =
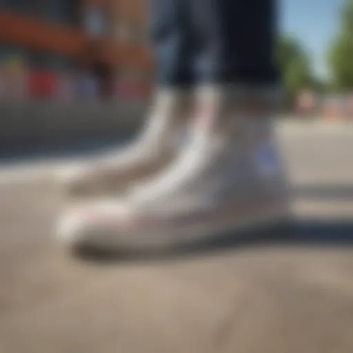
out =
[[197,105],[190,144],[172,165],[126,199],[72,207],[59,238],[100,250],[168,248],[282,221],[287,190],[269,121],[249,123],[234,90],[202,90]]

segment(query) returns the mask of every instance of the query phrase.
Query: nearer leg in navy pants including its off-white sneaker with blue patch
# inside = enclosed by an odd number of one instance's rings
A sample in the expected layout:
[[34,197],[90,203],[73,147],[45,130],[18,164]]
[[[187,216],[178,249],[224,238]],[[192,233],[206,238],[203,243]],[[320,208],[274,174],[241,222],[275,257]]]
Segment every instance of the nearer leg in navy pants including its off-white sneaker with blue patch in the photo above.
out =
[[71,245],[160,248],[262,228],[286,216],[286,188],[270,134],[276,2],[188,1],[197,73],[190,142],[128,200],[70,212],[59,234]]

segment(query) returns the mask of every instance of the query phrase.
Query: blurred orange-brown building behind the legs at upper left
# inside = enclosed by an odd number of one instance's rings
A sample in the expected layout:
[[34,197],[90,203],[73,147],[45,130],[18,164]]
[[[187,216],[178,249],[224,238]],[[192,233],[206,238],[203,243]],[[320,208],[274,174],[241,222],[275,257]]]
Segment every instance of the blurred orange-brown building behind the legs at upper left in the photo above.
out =
[[148,90],[147,25],[144,0],[1,0],[0,70],[29,72],[34,95],[79,74],[102,96],[126,82]]

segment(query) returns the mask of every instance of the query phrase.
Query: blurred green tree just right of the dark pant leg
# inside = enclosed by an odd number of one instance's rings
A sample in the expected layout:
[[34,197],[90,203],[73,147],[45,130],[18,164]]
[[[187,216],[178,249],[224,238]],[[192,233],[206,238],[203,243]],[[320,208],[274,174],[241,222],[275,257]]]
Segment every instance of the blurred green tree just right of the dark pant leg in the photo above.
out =
[[285,97],[289,104],[305,88],[316,88],[311,63],[305,48],[294,37],[283,36],[279,39],[278,60],[281,70]]

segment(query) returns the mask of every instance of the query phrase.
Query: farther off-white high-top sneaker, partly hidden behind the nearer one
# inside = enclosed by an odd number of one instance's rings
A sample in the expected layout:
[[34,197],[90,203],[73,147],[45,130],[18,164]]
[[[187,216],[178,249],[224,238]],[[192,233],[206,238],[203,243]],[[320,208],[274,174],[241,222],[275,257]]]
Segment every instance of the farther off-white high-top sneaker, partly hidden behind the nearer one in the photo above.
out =
[[140,136],[126,148],[63,170],[60,182],[71,196],[120,193],[143,180],[176,156],[190,114],[190,92],[157,93],[150,118]]

